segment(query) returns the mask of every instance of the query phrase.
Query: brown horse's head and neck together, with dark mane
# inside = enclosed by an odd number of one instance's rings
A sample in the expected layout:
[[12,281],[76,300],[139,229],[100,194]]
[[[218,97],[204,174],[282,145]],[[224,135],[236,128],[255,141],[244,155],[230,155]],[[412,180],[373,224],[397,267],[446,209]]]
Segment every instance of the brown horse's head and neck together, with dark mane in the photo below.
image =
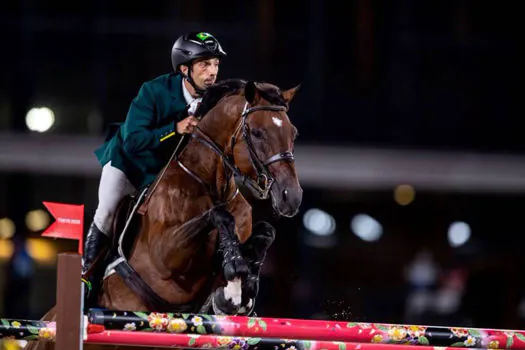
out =
[[207,90],[196,112],[203,118],[194,137],[207,135],[204,142],[254,196],[271,197],[274,210],[286,217],[297,214],[303,193],[293,154],[297,129],[287,114],[298,89],[225,80]]

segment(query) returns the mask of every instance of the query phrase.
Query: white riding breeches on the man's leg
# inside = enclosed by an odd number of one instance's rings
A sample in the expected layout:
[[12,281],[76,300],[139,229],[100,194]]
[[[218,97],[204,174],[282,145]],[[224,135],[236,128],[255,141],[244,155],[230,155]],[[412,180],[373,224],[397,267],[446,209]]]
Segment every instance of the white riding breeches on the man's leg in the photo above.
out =
[[111,166],[111,162],[104,165],[98,187],[98,207],[93,221],[106,235],[112,236],[113,218],[120,200],[135,191],[126,175]]

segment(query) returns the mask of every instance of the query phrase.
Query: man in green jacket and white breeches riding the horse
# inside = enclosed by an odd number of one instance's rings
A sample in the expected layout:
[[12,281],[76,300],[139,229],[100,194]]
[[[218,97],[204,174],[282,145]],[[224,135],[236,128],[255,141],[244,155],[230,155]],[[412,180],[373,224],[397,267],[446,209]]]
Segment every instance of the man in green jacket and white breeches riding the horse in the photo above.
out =
[[[109,245],[120,200],[153,182],[182,134],[194,130],[197,119],[192,114],[204,91],[215,83],[224,56],[219,41],[209,33],[181,35],[171,50],[174,72],[145,82],[124,123],[95,150],[102,175],[98,207],[84,244],[83,274]],[[96,270],[100,268],[94,267],[89,277],[86,303],[96,304],[102,277]]]

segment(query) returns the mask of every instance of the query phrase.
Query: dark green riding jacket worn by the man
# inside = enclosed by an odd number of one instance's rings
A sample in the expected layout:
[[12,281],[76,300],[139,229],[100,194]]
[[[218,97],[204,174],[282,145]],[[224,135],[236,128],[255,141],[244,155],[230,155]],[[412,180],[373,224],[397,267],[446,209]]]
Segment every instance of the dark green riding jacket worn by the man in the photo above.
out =
[[187,116],[182,76],[161,75],[142,84],[126,120],[95,150],[102,166],[122,170],[136,189],[150,184],[166,165],[182,135],[176,123]]

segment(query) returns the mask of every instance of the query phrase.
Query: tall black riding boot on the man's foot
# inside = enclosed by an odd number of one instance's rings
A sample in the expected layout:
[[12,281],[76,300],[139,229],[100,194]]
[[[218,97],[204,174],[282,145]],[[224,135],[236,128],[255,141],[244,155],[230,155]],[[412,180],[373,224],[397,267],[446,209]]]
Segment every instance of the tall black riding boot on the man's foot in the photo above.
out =
[[[100,264],[103,257],[95,260],[100,255],[104,248],[109,248],[110,239],[102,231],[98,229],[94,222],[91,223],[89,231],[84,242],[84,255],[82,257],[82,275],[90,271],[86,278],[86,286],[84,288],[84,309],[96,307],[98,302],[98,293],[100,292],[100,285],[102,282],[103,264]],[[94,266],[93,266],[94,264]]]

